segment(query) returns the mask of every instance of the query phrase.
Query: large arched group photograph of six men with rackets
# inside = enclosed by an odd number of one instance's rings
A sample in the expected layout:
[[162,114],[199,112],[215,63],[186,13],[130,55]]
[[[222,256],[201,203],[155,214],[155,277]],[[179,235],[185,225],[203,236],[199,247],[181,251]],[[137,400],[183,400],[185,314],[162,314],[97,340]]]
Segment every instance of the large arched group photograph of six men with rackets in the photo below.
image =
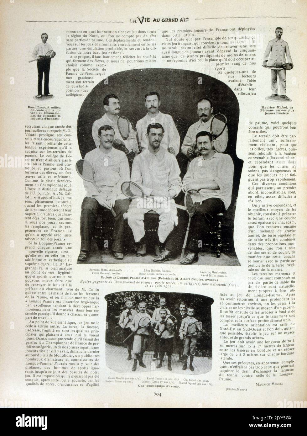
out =
[[77,262],[240,265],[238,121],[232,90],[201,73],[148,68],[96,85],[77,125]]

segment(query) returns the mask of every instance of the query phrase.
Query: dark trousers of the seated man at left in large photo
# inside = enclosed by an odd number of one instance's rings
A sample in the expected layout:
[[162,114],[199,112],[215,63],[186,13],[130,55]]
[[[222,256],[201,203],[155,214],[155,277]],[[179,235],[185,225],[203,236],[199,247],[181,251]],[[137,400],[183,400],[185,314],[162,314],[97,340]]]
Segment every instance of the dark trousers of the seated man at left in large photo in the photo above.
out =
[[[116,200],[114,205],[114,210],[118,214],[114,218],[113,227],[113,243],[112,251],[122,252],[123,251],[123,239],[125,233],[128,230],[127,220],[124,220],[123,214],[128,211],[130,201]],[[94,198],[85,197],[82,201],[81,206],[81,218],[80,218],[80,235],[81,235],[81,250],[89,251],[91,249],[91,238],[94,233],[94,227],[96,224],[97,215],[102,211],[105,211],[97,200]]]

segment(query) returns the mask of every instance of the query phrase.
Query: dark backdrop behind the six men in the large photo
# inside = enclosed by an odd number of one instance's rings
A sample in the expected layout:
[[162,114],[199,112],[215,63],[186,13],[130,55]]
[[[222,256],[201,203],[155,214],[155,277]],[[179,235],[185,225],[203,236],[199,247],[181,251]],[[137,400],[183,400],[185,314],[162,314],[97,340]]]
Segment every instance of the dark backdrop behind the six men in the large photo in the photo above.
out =
[[[199,84],[201,82],[201,84]],[[108,77],[108,84],[101,81],[85,98],[78,116],[77,133],[81,157],[95,148],[91,136],[94,121],[105,113],[103,99],[105,95],[114,93],[121,104],[121,115],[126,116],[135,128],[136,122],[143,118],[145,108],[145,94],[156,91],[160,94],[161,106],[159,110],[172,116],[180,135],[180,146],[186,132],[199,117],[197,115],[197,101],[207,97],[213,102],[213,114],[221,112],[228,119],[228,145],[226,153],[233,159],[234,179],[232,203],[224,214],[223,237],[224,251],[235,254],[233,246],[233,223],[236,198],[240,185],[243,160],[236,156],[236,139],[239,123],[239,103],[233,91],[225,83],[211,76],[180,69],[145,68],[123,71]],[[186,174],[187,159],[181,152],[177,155],[181,176]],[[183,197],[179,194],[177,200]],[[177,202],[178,202],[177,201]]]

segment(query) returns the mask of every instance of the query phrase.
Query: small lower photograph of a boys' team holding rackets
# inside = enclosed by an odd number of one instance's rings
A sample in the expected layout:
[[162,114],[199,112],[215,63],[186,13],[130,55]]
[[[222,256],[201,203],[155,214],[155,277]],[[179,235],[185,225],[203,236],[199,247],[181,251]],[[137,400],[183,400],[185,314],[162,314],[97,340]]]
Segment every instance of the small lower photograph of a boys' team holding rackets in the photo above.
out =
[[213,300],[209,297],[121,292],[105,299],[109,368],[197,374],[211,369]]

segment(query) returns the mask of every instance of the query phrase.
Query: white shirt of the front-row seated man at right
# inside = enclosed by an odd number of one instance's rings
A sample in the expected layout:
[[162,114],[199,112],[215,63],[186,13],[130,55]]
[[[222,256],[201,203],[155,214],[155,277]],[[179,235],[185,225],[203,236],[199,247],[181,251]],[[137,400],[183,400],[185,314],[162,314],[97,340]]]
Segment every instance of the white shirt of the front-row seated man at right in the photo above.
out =
[[201,202],[207,198],[220,198],[227,210],[231,203],[233,190],[233,160],[229,154],[216,152],[214,152],[213,157],[206,160],[202,156],[196,157],[189,164],[186,175],[183,177],[183,192],[186,192],[186,185],[192,181],[204,181],[204,183],[215,181],[219,185],[219,189],[200,189],[199,195],[192,195],[192,198],[199,201],[200,196]]

